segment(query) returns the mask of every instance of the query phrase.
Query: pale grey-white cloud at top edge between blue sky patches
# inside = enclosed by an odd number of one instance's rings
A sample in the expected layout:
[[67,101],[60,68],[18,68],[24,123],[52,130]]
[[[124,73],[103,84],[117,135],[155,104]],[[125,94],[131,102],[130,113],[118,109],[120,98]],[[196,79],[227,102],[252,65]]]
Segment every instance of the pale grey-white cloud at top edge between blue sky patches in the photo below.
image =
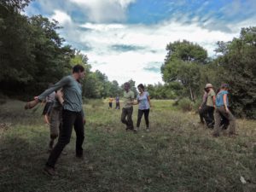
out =
[[77,3],[87,12],[92,22],[109,22],[125,20],[125,11],[136,0],[70,0]]

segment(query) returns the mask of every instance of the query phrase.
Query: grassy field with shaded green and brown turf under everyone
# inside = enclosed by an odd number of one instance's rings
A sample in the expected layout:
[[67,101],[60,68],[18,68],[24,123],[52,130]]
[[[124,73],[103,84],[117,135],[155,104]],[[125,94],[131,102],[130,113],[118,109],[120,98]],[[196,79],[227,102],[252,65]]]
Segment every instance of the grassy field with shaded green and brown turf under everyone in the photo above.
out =
[[43,108],[0,105],[0,191],[256,191],[256,121],[238,119],[238,137],[213,138],[196,114],[173,108],[172,101],[153,105],[151,131],[144,131],[143,120],[134,134],[120,123],[120,110],[102,101],[85,104],[85,159],[74,157],[73,134],[55,177],[42,172],[49,155]]

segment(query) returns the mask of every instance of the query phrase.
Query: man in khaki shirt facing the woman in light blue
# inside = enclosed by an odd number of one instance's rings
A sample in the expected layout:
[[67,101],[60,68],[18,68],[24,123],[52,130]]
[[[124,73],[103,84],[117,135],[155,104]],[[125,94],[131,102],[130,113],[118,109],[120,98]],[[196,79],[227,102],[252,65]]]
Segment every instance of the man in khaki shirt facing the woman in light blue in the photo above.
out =
[[122,108],[121,121],[126,125],[126,131],[133,130],[132,112],[133,107],[131,102],[134,100],[134,92],[130,90],[130,83],[124,84],[124,107]]

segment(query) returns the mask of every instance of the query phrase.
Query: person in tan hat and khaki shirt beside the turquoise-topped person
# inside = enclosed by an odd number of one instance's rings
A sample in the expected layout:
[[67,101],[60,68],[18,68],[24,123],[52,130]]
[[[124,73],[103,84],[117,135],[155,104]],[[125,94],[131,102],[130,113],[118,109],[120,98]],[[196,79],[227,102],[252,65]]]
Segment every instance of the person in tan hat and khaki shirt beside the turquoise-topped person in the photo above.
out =
[[214,126],[214,108],[215,108],[215,92],[213,90],[212,84],[206,84],[207,90],[207,105],[204,108],[204,112],[202,113],[203,118],[206,120],[207,127],[213,128]]

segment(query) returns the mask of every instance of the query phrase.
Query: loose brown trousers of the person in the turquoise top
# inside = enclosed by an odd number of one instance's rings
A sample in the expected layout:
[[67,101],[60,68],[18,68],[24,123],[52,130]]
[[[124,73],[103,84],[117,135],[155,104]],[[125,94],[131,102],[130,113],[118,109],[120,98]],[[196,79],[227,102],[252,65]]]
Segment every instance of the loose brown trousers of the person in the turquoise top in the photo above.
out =
[[228,119],[230,122],[230,131],[229,131],[230,134],[236,133],[236,119],[234,115],[230,111],[226,112],[224,106],[221,106],[215,109],[215,113],[214,113],[215,125],[214,125],[213,134],[218,135],[219,132],[221,131],[222,116],[224,116],[224,118]]

